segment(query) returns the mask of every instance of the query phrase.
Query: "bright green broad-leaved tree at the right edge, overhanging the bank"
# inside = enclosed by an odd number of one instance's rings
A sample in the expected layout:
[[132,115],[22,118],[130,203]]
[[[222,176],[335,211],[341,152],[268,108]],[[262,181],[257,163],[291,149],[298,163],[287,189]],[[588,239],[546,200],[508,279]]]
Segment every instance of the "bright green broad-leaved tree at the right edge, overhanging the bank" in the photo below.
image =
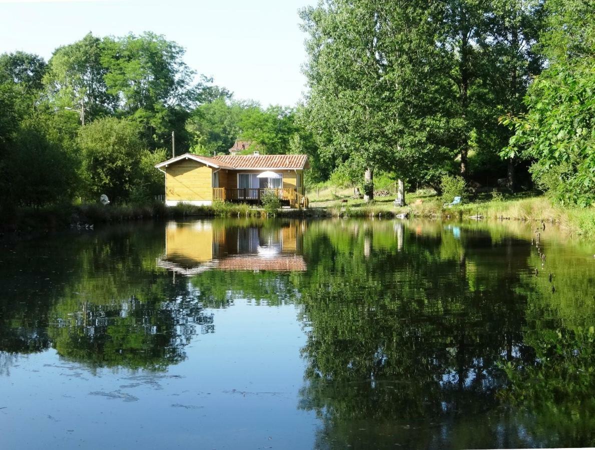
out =
[[531,85],[528,112],[503,156],[534,161],[537,184],[562,203],[595,204],[595,12],[588,0],[546,2],[546,70]]

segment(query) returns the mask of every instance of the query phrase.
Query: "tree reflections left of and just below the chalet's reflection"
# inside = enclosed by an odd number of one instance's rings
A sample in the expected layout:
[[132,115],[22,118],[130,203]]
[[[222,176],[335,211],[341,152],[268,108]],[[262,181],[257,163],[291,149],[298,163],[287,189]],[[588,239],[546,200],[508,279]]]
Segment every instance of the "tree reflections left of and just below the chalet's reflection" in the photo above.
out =
[[[278,231],[280,224],[273,225]],[[206,307],[231,306],[237,298],[275,305],[295,298],[287,273],[176,278],[156,267],[163,246],[160,224],[18,243],[8,271],[0,274],[7,281],[0,292],[7,368],[14,359],[9,354],[54,347],[94,367],[165,369],[185,357],[193,334],[214,332]]]

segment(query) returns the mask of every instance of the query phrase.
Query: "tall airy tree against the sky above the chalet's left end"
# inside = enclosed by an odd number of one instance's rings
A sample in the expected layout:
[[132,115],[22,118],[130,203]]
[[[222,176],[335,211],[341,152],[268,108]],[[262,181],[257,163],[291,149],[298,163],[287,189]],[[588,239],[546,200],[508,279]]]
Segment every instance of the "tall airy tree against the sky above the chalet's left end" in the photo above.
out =
[[155,147],[169,147],[171,131],[177,144],[188,146],[186,120],[190,110],[224,90],[210,86],[183,61],[185,50],[155,33],[128,34],[105,39],[102,64],[108,93],[118,97],[118,112],[143,125],[144,139]]

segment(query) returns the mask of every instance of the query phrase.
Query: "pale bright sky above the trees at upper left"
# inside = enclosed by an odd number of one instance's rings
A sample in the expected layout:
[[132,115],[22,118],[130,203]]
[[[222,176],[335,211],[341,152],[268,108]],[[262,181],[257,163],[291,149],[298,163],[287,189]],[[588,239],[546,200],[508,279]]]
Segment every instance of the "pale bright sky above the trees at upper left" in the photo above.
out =
[[81,39],[152,31],[237,99],[293,105],[305,89],[297,10],[315,0],[0,0],[0,53],[48,59]]

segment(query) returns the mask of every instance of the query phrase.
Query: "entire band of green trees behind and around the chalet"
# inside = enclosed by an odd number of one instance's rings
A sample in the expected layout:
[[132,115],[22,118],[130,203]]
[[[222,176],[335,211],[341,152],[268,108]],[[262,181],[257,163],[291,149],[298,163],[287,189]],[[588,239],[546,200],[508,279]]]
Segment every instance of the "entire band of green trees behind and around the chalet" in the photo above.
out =
[[156,162],[235,140],[308,153],[308,182],[373,174],[440,190],[506,179],[595,200],[591,0],[326,0],[300,11],[308,92],[262,108],[197,77],[163,36],[87,34],[49,61],[0,55],[0,208],[142,202]]

